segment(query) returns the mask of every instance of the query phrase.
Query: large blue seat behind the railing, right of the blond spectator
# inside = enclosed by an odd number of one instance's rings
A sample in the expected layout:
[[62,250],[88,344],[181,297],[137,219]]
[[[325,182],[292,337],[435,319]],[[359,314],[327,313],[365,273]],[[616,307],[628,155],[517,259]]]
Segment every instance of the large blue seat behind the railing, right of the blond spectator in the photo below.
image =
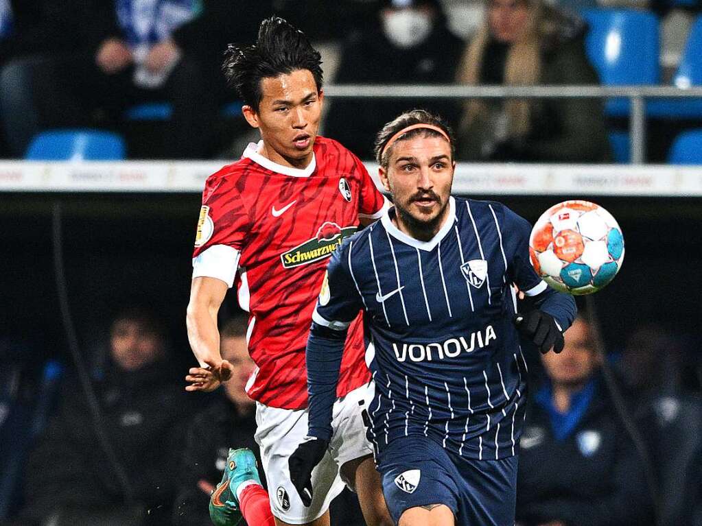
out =
[[[585,50],[606,86],[658,84],[658,18],[632,9],[585,9],[590,30]],[[610,116],[628,116],[629,101],[611,99],[605,105]]]

